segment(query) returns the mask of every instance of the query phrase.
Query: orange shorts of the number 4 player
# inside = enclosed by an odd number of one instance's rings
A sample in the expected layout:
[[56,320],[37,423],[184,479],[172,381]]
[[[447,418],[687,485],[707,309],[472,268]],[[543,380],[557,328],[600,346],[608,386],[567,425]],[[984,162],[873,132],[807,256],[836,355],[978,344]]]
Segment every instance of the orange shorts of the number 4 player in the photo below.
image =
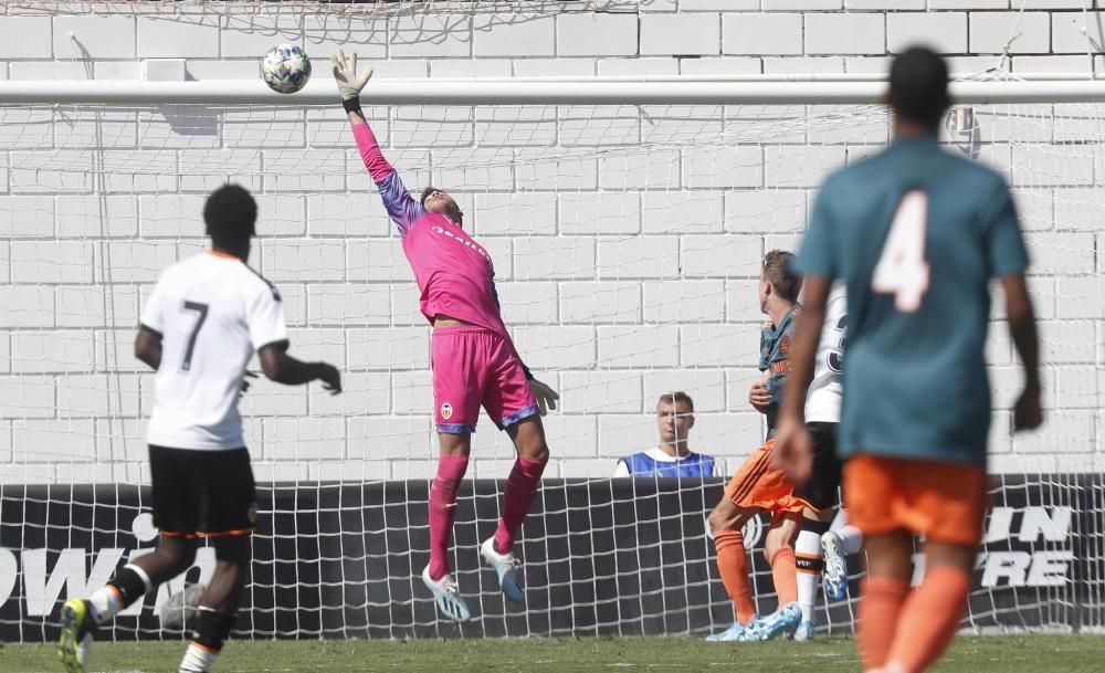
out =
[[856,455],[844,464],[849,523],[864,535],[904,528],[926,539],[977,545],[986,471],[959,463]]

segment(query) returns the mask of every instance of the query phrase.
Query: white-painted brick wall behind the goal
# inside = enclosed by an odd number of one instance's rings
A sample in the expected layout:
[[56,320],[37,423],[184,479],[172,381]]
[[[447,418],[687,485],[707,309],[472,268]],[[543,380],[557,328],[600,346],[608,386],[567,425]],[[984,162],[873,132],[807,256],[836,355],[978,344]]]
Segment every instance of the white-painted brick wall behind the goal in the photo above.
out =
[[[917,42],[947,54],[958,72],[997,64],[1008,44],[1015,73],[1084,74],[1105,67],[1105,59],[1086,55],[1099,51],[1103,13],[1090,12],[1087,24],[1083,4],[656,0],[614,12],[522,15],[6,15],[0,80],[136,78],[149,59],[182,59],[198,78],[252,78],[257,57],[276,42],[304,44],[324,78],[339,48],[373,62],[381,78],[433,78],[885,72],[894,53]],[[1097,134],[1101,117],[1086,118],[1077,106],[1039,116],[1021,109],[1013,124],[980,119],[979,154],[1022,190],[1044,355],[1054,368],[1048,396],[1062,411],[1044,431],[1015,441],[1000,427],[1006,411],[993,433],[996,466],[1057,467],[1061,445],[1073,461],[1064,465],[1099,469],[1105,165],[1076,141]],[[257,192],[262,240],[253,261],[280,284],[293,350],[330,359],[346,377],[336,398],[255,382],[242,409],[259,477],[430,474],[429,328],[340,111],[312,111],[306,123],[294,114],[212,113],[196,128],[181,126],[181,112],[112,112],[99,120],[4,112],[0,480],[144,474],[152,378],[131,353],[140,298],[160,269],[202,249],[203,193],[227,177]],[[433,180],[457,190],[466,225],[495,260],[519,349],[564,392],[547,423],[550,476],[609,474],[618,456],[654,440],[655,397],[677,388],[697,402],[696,446],[732,467],[755,445],[760,419],[746,398],[762,319],[760,256],[794,244],[827,171],[875,151],[886,135],[881,120],[853,125],[846,116],[810,132],[776,128],[769,143],[747,130],[770,127],[778,114],[371,111],[410,187]],[[20,120],[19,135],[9,133]],[[703,141],[719,133],[739,141]],[[633,149],[642,138],[665,145],[643,155]],[[107,149],[92,153],[93,145]],[[36,170],[43,147],[56,147],[52,161],[69,168]],[[161,147],[175,148],[172,158],[154,170],[165,161]],[[147,168],[108,171],[101,194],[85,170],[94,156]],[[1002,313],[1000,298],[994,313]],[[996,404],[1004,409],[1019,375],[1000,323],[988,353]],[[473,474],[501,475],[509,456],[504,437],[482,422],[476,445]]]

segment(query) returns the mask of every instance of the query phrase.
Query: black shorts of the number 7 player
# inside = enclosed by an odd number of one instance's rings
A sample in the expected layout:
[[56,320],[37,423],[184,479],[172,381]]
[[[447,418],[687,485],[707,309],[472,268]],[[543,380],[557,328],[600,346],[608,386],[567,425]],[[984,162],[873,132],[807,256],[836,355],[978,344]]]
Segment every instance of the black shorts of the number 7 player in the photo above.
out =
[[244,448],[197,451],[149,446],[154,525],[167,537],[249,535],[257,498]]

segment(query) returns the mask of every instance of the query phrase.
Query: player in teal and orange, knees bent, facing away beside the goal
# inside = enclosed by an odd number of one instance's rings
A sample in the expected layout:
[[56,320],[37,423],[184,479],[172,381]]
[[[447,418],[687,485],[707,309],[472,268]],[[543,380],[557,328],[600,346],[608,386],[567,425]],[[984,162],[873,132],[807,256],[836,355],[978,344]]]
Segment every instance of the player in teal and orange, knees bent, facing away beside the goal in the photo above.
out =
[[[793,495],[786,475],[771,466],[775,444],[775,417],[782,400],[782,386],[789,369],[788,353],[793,339],[801,281],[788,270],[789,252],[772,251],[764,260],[760,275],[760,311],[771,325],[760,337],[760,381],[753,386],[749,401],[767,416],[767,442],[745,461],[725,488],[725,495],[709,514],[709,527],[717,549],[717,568],[733,599],[737,621],[727,630],[711,635],[712,641],[768,640],[794,629],[801,619],[798,607],[796,560],[792,544],[806,505]],[[764,553],[771,565],[779,609],[764,619],[756,617],[748,583],[748,559],[741,528],[760,512],[772,514]]]

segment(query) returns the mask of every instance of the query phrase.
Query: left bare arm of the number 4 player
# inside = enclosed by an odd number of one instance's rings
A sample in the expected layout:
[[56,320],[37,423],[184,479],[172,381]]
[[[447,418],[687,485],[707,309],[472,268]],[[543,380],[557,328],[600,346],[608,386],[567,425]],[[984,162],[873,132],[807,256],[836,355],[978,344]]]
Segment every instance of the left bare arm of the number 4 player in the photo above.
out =
[[802,319],[794,330],[794,345],[790,351],[790,379],[787,381],[787,395],[779,412],[779,433],[772,458],[794,484],[809,481],[813,469],[812,442],[804,424],[804,406],[813,380],[813,359],[821,340],[831,285],[829,280],[815,276],[806,278],[802,284],[806,293]]

